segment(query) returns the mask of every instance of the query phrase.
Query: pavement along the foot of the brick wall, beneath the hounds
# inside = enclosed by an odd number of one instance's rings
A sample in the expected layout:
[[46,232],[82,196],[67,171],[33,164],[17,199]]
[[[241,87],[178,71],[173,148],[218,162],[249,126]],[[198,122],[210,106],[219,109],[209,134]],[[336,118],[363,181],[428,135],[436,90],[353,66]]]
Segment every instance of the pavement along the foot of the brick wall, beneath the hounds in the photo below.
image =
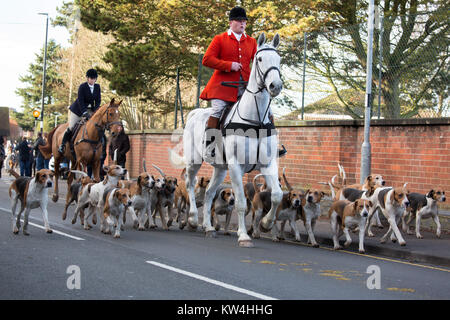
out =
[[[11,180],[8,174],[5,174],[3,172],[3,178],[1,179],[3,181]],[[65,180],[60,181],[60,195],[59,195],[59,201],[61,203],[65,202],[65,196],[66,196],[66,188],[67,183]],[[50,191],[50,194],[52,191]],[[330,205],[330,201],[324,201],[322,204],[322,216],[318,219],[315,229],[314,229],[314,235],[316,238],[316,241],[319,243],[321,247],[327,247],[332,248],[333,247],[333,241],[331,239],[331,230],[330,230],[330,223],[329,219],[327,217],[328,208]],[[202,220],[202,208],[199,209],[199,223],[201,223]],[[406,241],[406,246],[400,246],[398,243],[393,243],[390,240],[387,241],[384,244],[380,243],[381,236],[387,232],[387,222],[382,219],[382,223],[385,225],[383,229],[379,228],[372,228],[373,233],[375,236],[372,237],[365,237],[364,240],[364,247],[366,250],[367,255],[378,255],[383,256],[386,258],[395,258],[395,259],[401,259],[406,260],[409,262],[414,263],[424,263],[424,264],[431,264],[431,265],[438,265],[438,266],[445,266],[450,267],[450,230],[446,227],[446,224],[443,223],[443,220],[448,219],[450,220],[450,212],[448,211],[440,211],[440,220],[441,224],[443,225],[443,230],[441,234],[441,238],[437,238],[435,233],[433,232],[432,228],[424,227],[421,229],[421,233],[423,235],[423,239],[417,239],[414,235],[408,235],[405,234],[403,231],[402,235]],[[223,221],[223,217],[219,218],[220,221]],[[433,226],[432,219],[423,220],[423,225],[425,225],[425,222],[427,222],[429,225]],[[300,235],[301,235],[301,242],[296,242],[293,238],[293,236],[290,234],[290,227],[287,226],[285,229],[285,236],[286,240],[285,242],[293,243],[297,245],[307,245],[307,234],[306,230],[302,223],[298,222],[300,225]],[[246,217],[246,225],[249,227],[251,224],[251,215],[249,214]],[[232,215],[231,222],[230,222],[230,229],[231,231],[237,230],[237,216],[235,214]],[[223,230],[223,228],[222,228]],[[435,229],[434,229],[435,230]],[[222,231],[219,231],[222,232]],[[271,238],[270,233],[262,233],[262,238]],[[352,234],[353,242],[352,244],[346,248],[346,251],[354,252],[355,254],[358,253],[358,235]],[[344,237],[342,236],[340,238],[341,244],[344,242]]]

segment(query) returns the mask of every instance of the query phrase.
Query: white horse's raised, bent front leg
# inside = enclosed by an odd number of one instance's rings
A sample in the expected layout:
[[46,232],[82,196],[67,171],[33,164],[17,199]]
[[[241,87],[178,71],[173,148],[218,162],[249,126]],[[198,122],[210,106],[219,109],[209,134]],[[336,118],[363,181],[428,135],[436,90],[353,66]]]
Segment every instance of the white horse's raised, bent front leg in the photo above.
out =
[[266,168],[262,167],[261,173],[264,174],[266,178],[267,187],[272,189],[272,206],[267,215],[262,218],[259,228],[262,232],[269,232],[275,222],[275,213],[277,212],[278,205],[283,198],[283,191],[281,191],[278,183],[278,166],[275,161],[272,161]]

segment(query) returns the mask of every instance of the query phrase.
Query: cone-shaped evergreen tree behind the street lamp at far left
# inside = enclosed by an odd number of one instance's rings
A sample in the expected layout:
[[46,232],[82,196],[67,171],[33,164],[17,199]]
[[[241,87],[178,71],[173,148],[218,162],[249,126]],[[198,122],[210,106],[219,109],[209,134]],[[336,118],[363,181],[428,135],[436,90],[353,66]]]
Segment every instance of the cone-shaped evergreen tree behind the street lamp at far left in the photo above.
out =
[[[47,69],[44,96],[44,127],[53,126],[54,112],[63,112],[64,103],[55,94],[57,88],[61,86],[62,79],[59,73],[61,62],[61,48],[54,40],[47,43]],[[23,98],[23,112],[13,112],[13,118],[24,130],[34,129],[34,109],[41,111],[42,101],[42,79],[44,65],[44,48],[36,54],[34,63],[31,63],[26,75],[20,76],[19,80],[25,87],[18,88],[16,94]]]

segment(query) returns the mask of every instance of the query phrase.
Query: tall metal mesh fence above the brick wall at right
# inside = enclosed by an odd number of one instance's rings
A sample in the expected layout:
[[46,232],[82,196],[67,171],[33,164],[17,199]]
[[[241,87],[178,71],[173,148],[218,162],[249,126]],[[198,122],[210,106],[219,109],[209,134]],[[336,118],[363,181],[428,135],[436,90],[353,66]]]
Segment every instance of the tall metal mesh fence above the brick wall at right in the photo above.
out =
[[[376,19],[372,118],[449,117],[449,11]],[[362,119],[367,24],[305,33],[282,52],[287,119]]]

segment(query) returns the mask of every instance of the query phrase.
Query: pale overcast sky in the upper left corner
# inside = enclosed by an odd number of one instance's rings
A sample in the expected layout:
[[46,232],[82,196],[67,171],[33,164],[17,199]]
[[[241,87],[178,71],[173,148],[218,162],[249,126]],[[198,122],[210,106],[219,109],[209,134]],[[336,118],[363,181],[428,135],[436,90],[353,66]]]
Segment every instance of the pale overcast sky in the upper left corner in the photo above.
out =
[[[67,2],[68,0],[66,0]],[[44,47],[46,12],[56,17],[56,8],[63,0],[13,0],[0,2],[0,106],[17,108],[22,98],[15,94],[36,54]],[[68,47],[69,33],[65,28],[48,26],[48,40],[54,39]]]

